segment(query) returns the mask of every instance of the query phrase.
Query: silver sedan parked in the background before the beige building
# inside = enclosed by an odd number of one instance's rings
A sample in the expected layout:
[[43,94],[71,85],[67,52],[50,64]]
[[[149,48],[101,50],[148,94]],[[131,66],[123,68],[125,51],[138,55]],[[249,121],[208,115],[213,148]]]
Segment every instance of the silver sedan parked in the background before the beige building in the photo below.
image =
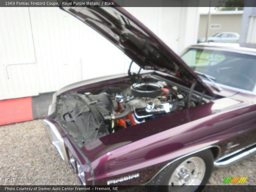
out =
[[[221,32],[217,33],[214,36],[208,38],[208,42],[217,42],[217,43],[237,43],[239,40],[239,34],[234,32]],[[197,43],[204,43],[204,38],[199,38]]]

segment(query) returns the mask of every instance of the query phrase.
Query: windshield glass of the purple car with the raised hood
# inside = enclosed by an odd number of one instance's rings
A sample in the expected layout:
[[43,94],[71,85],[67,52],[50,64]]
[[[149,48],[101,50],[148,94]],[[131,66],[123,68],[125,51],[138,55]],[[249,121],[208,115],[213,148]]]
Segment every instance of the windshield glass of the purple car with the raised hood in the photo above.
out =
[[[256,83],[256,56],[191,48],[181,58],[194,71],[215,78],[214,82],[253,91]],[[202,79],[209,81],[206,77]]]

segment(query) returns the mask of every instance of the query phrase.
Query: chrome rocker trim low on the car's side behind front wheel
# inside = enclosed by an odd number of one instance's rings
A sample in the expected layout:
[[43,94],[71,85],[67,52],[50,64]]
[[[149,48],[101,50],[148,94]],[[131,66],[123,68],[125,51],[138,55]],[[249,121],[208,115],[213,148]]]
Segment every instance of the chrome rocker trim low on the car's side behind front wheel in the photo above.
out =
[[215,167],[229,166],[229,165],[234,164],[248,156],[253,155],[254,153],[256,153],[256,145],[251,146],[251,147],[253,147],[253,148],[246,147],[241,150],[235,151],[227,156],[222,157],[220,160],[214,162],[214,166]]

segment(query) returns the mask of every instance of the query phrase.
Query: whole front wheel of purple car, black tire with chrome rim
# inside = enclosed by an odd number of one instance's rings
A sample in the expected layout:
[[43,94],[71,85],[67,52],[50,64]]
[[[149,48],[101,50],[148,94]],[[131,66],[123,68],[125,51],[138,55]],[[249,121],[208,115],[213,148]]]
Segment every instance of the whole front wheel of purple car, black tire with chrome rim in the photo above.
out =
[[[212,151],[210,149],[198,152],[196,154],[192,154],[190,156],[186,156],[180,160],[175,161],[169,166],[165,167],[160,173],[158,173],[156,177],[149,183],[149,185],[151,186],[148,186],[148,189],[149,191],[152,191],[152,192],[153,191],[165,191],[165,192],[201,191],[211,176],[213,161],[214,161],[214,158],[213,158]],[[193,167],[194,167],[194,171],[193,171]],[[183,172],[180,170],[182,170]],[[197,172],[201,172],[203,174],[197,174]],[[178,180],[177,173],[184,176],[184,177],[179,176],[181,181]],[[187,175],[187,173],[189,174],[189,176]],[[196,176],[196,175],[197,177],[195,179],[195,177],[193,176]],[[181,184],[185,184],[185,185],[179,186]]]

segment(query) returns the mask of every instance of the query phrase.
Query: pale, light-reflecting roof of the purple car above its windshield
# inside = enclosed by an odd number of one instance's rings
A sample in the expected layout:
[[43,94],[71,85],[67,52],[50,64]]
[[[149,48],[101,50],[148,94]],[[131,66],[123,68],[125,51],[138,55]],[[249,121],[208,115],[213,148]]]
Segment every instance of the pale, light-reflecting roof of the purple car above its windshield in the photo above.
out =
[[196,48],[210,48],[210,49],[220,49],[223,51],[230,52],[245,52],[247,54],[256,54],[256,44],[247,44],[247,43],[199,43],[194,44],[189,47]]

